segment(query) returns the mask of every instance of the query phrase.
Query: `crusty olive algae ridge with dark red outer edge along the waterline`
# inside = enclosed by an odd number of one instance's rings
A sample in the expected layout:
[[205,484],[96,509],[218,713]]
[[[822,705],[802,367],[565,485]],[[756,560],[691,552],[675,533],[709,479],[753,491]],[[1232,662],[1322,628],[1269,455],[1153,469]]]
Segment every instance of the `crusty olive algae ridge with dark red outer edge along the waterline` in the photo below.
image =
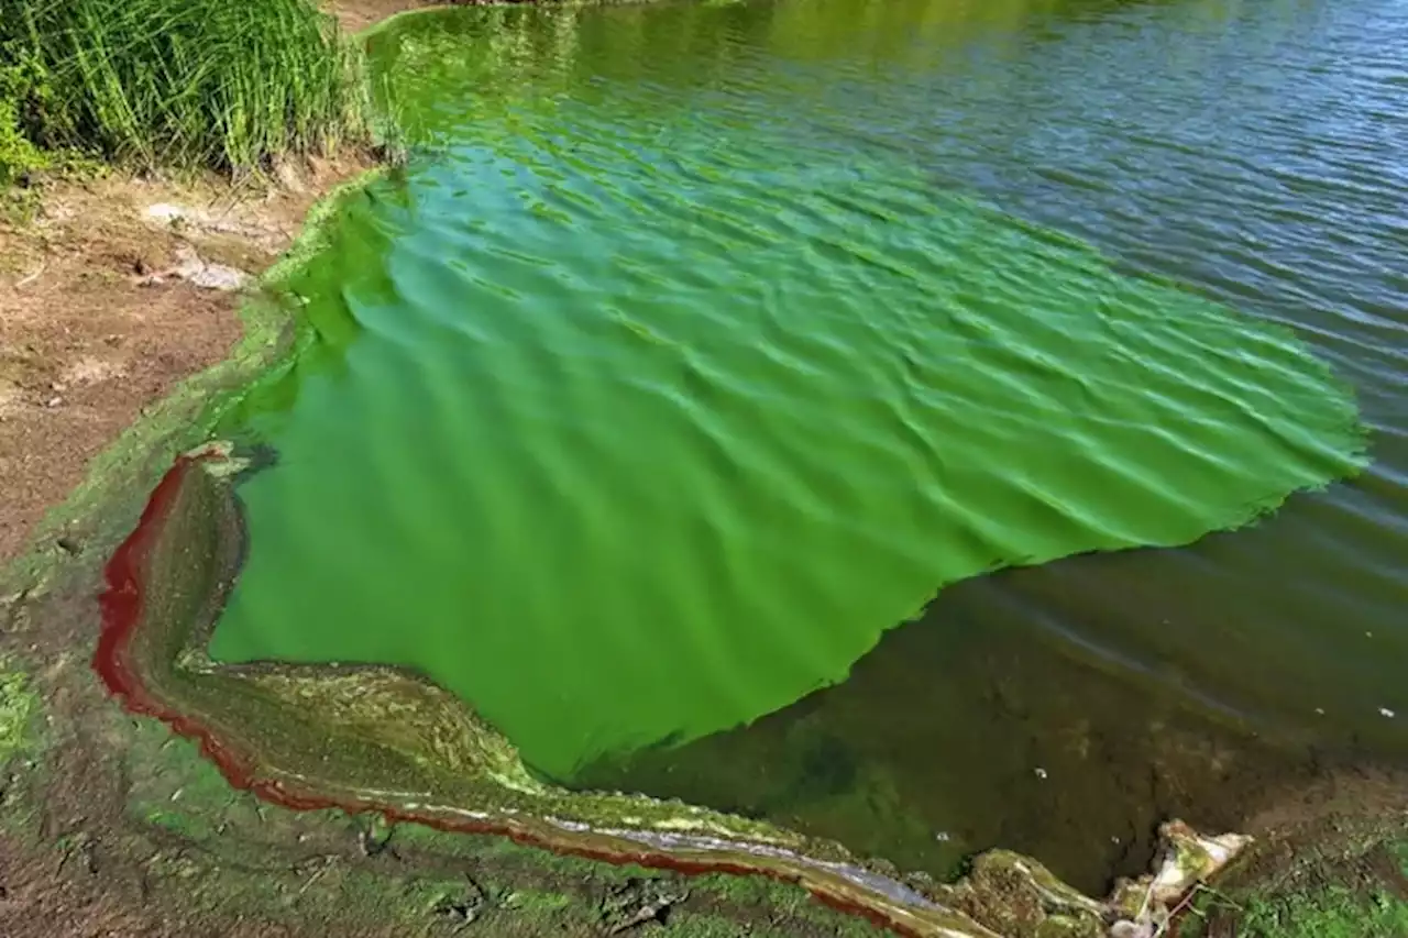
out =
[[[275,682],[287,676],[303,684],[298,704],[304,711],[332,711],[337,704],[329,703],[328,697],[337,692],[318,690],[320,677],[328,683],[339,677],[362,683],[384,679],[391,670],[372,666],[217,666],[201,654],[208,623],[197,624],[189,635],[179,635],[183,630],[183,610],[199,608],[211,618],[218,614],[222,594],[232,580],[232,565],[242,554],[242,545],[231,544],[242,535],[234,494],[228,484],[213,482],[203,470],[206,465],[218,468],[230,459],[231,455],[225,451],[180,458],[152,494],[137,530],[113,555],[106,570],[107,590],[100,597],[103,632],[94,668],[131,713],[156,717],[175,732],[199,741],[201,753],[220,768],[234,787],[298,811],[338,808],[352,815],[372,811],[389,824],[424,824],[452,834],[493,834],[520,845],[612,865],[635,865],[691,876],[762,875],[796,883],[832,908],[862,915],[915,938],[993,938],[997,934],[943,903],[950,896],[979,889],[972,882],[936,886],[929,894],[922,894],[884,872],[867,869],[863,862],[849,858],[839,845],[808,842],[763,824],[643,796],[576,794],[546,786],[529,787],[532,783],[527,782],[527,773],[517,763],[511,745],[482,724],[477,725],[480,738],[470,742],[463,759],[446,758],[444,752],[422,753],[431,759],[438,756],[446,762],[446,768],[453,766],[458,776],[486,776],[490,783],[487,789],[480,787],[477,793],[466,790],[462,796],[473,799],[477,794],[479,803],[456,803],[449,775],[439,776],[442,786],[428,793],[429,799],[420,796],[420,800],[413,800],[417,796],[411,792],[417,790],[418,782],[434,784],[435,779],[407,780],[404,793],[397,793],[394,786],[400,775],[394,769],[390,775],[379,775],[375,784],[348,780],[341,766],[331,772],[324,768],[328,773],[320,777],[317,766],[280,763],[280,756],[287,759],[287,753],[270,755],[268,745],[260,746],[260,742],[269,742],[268,731],[246,731],[242,745],[248,748],[241,748],[241,742],[227,741],[217,730],[220,723],[227,728],[231,725],[227,714],[203,715],[199,704],[193,703],[197,692],[190,692],[193,696],[186,701],[172,700],[183,694],[183,684],[224,675],[218,693],[228,700],[244,693],[238,687],[241,679],[253,679],[268,692]],[[182,558],[180,566],[165,563],[162,555]],[[208,563],[200,559],[206,556],[211,558]],[[193,575],[196,582],[187,582],[186,569],[193,559],[201,572]],[[166,577],[175,577],[175,582],[163,582]],[[201,582],[207,584],[204,589],[214,590],[215,599],[207,600],[201,594]],[[170,599],[172,596],[176,599]],[[177,632],[176,637],[172,637],[173,631]],[[166,655],[173,655],[172,661],[161,659]],[[179,662],[187,665],[182,666]],[[262,676],[275,680],[260,682]],[[414,675],[393,675],[390,679],[434,689],[434,684]],[[435,692],[449,699],[449,694],[438,689]],[[253,701],[249,707],[259,708]],[[462,707],[449,703],[449,708]],[[466,720],[474,721],[472,713],[463,710]],[[389,715],[401,721],[408,718],[404,708]],[[436,715],[431,714],[427,724],[436,720]],[[277,725],[279,734],[297,732],[287,713],[268,708],[265,718],[268,723],[259,725]],[[452,718],[439,717],[444,723]],[[246,718],[242,723],[249,725],[253,721]],[[310,721],[310,728],[317,731],[314,738],[324,728],[335,732],[335,725],[337,721],[331,717]],[[398,727],[398,731],[404,731],[404,727]],[[389,734],[379,735],[389,738]],[[310,755],[317,756],[317,748],[314,745]],[[321,748],[321,759],[327,761],[328,751],[338,749],[335,737],[329,737]],[[503,780],[503,766],[496,769],[483,758],[476,758],[476,752],[494,749],[503,759],[515,763],[508,770],[517,770],[517,779]],[[382,759],[390,762],[394,755],[383,755]],[[408,775],[414,777],[415,773]],[[497,800],[507,807],[494,804],[496,787]],[[341,794],[334,793],[338,789],[342,790]],[[362,792],[367,790],[375,790],[376,794],[363,797]],[[441,797],[449,800],[441,804],[432,800]],[[812,855],[821,859],[812,859]],[[1070,918],[1070,928],[1088,931],[1115,914],[1114,904],[1107,908],[1087,900],[1060,884],[1035,861],[1024,862],[1035,872],[1025,872],[1019,862],[1008,866],[1018,877],[1025,875],[1033,884],[1039,883],[1042,889],[1062,897],[1060,908],[1052,913],[1053,921]],[[1180,894],[1183,889],[1178,889]],[[990,901],[994,900],[984,897],[984,904]]]

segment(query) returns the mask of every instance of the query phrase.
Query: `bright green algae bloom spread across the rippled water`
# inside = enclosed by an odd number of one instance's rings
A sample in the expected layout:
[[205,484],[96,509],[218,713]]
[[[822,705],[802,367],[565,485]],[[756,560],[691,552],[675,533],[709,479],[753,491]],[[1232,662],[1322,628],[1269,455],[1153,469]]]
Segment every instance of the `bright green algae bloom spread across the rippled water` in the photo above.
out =
[[838,111],[824,69],[612,25],[377,37],[424,146],[224,428],[276,459],[214,658],[414,668],[566,780],[845,679],[945,584],[1357,469],[1290,331],[946,190],[898,85]]

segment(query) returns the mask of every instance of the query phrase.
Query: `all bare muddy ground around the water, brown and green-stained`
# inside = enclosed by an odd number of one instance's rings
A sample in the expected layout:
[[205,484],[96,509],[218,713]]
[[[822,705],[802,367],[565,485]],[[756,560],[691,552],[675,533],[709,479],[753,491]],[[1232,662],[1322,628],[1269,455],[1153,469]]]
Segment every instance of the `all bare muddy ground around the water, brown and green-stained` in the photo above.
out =
[[[424,4],[332,8],[363,28],[413,6]],[[179,275],[190,252],[258,273],[318,196],[367,165],[345,154],[238,186],[52,182],[27,217],[0,221],[0,568],[124,428],[238,342],[238,294]],[[151,217],[161,204],[197,223]],[[170,430],[132,477],[159,470],[179,438]],[[877,934],[763,880],[386,830],[231,790],[190,744],[124,714],[89,670],[103,559],[144,494],[115,506],[110,527],[44,528],[30,562],[0,579],[0,937]],[[1394,865],[1408,849],[1405,793],[1373,772],[1288,793],[1252,818],[1262,846],[1200,897],[1184,934],[1260,934],[1243,928],[1259,896],[1335,887],[1408,903],[1408,870]]]

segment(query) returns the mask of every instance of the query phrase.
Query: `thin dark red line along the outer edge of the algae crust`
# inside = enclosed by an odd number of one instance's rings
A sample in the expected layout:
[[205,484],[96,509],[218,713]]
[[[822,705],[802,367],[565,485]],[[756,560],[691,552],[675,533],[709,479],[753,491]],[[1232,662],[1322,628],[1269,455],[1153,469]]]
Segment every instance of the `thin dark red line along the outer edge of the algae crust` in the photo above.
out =
[[[608,851],[604,848],[579,846],[555,841],[552,837],[524,831],[503,821],[477,821],[473,818],[446,820],[444,817],[418,815],[389,804],[362,800],[338,800],[308,792],[290,790],[280,782],[259,779],[253,762],[232,746],[222,744],[214,732],[199,720],[177,713],[148,693],[131,661],[131,645],[141,628],[144,608],[144,570],[152,548],[161,538],[162,527],[170,515],[176,496],[186,475],[197,468],[203,458],[180,456],[162,476],[152,492],[137,528],[113,552],[104,568],[106,589],[99,596],[101,610],[101,631],[97,651],[93,655],[93,669],[130,713],[161,720],[173,732],[200,744],[201,753],[210,759],[235,789],[251,792],[256,797],[294,811],[341,810],[348,814],[376,811],[390,823],[424,824],[453,834],[490,834],[507,837],[515,844],[548,849],[559,855],[601,861],[618,866],[635,863],[650,869],[665,869],[684,875],[728,873],[736,876],[767,876],[781,882],[796,883],[796,876],[779,870],[748,866],[731,861],[677,859],[658,851]],[[876,908],[846,901],[834,894],[808,889],[814,899],[836,911],[859,915],[876,925],[914,935],[911,930],[891,920]]]

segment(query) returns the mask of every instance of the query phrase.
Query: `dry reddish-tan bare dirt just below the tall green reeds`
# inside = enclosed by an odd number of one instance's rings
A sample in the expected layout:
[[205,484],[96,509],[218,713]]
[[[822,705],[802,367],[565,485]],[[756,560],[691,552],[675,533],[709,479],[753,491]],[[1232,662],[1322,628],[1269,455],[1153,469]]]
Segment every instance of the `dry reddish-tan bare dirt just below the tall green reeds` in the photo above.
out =
[[[365,159],[310,162],[284,185],[130,177],[61,183],[37,218],[0,227],[0,565],[141,410],[222,359],[238,294],[168,272],[200,258],[258,273]],[[182,206],[201,224],[152,206]]]

